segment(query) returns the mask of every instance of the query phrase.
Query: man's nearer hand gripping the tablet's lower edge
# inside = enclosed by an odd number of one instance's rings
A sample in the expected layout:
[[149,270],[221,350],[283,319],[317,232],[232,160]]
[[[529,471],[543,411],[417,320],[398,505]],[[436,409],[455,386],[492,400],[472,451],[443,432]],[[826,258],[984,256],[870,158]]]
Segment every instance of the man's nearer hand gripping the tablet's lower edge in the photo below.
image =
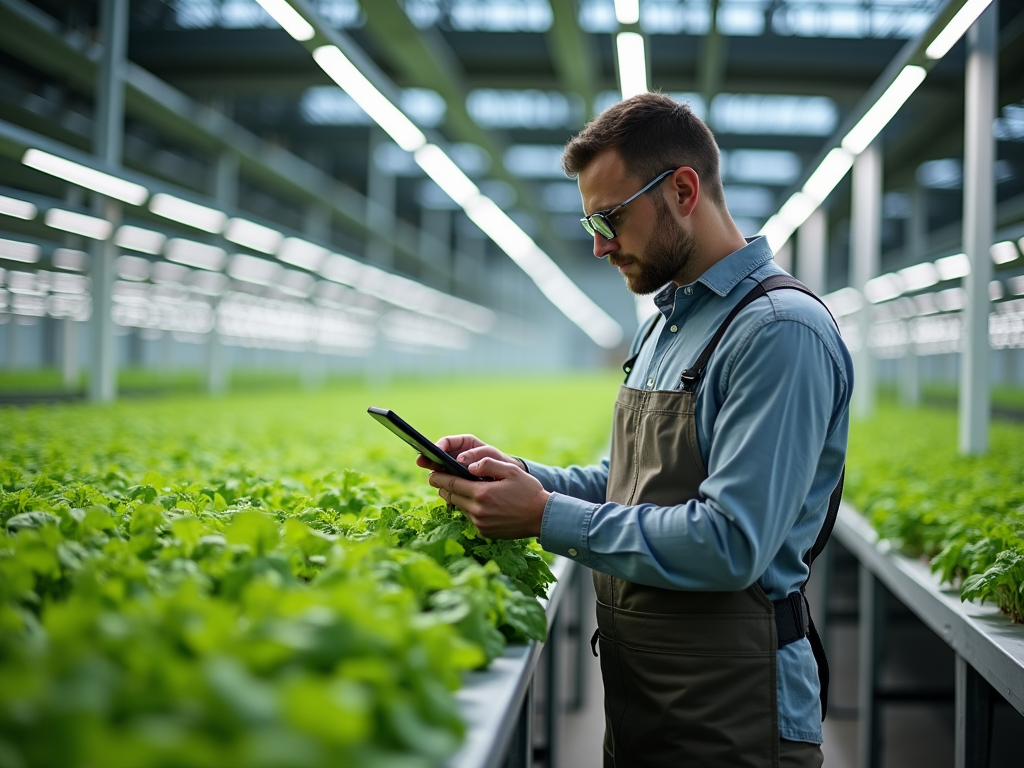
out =
[[[472,439],[476,440],[475,437]],[[478,444],[466,453],[486,449],[504,456],[479,440],[476,442]],[[441,443],[438,442],[438,445]],[[525,539],[541,535],[544,508],[551,495],[536,477],[523,471],[510,457],[509,461],[502,461],[489,454],[470,464],[469,471],[495,479],[478,482],[434,471],[428,481],[437,488],[441,499],[466,513],[480,536],[487,539]]]

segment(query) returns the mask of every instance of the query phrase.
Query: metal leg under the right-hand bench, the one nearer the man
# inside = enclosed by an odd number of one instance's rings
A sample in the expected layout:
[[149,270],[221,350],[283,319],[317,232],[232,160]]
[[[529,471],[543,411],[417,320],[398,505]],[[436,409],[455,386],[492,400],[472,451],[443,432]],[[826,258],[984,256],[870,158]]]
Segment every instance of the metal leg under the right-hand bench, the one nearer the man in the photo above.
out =
[[879,667],[885,627],[885,588],[865,566],[859,566],[859,627],[857,657],[857,766],[878,768],[882,758],[879,712]]

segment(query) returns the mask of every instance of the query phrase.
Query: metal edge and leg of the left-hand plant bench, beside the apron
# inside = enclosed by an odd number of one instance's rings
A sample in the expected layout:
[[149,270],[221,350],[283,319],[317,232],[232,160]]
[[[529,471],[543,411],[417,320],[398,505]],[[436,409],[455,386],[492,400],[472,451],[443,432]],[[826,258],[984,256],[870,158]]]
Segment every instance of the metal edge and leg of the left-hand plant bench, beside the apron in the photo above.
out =
[[[580,580],[584,568],[567,558],[558,557],[551,568],[557,582],[546,602],[548,613],[548,640],[530,641],[525,645],[509,645],[505,652],[492,662],[486,670],[470,673],[465,685],[457,693],[459,711],[467,724],[466,740],[447,762],[447,768],[529,768],[536,753],[534,734],[535,678],[543,668],[543,728],[541,757],[551,764],[555,754],[557,729],[554,727],[558,695],[555,653],[559,641],[579,644],[574,655],[581,657],[583,639],[580,632],[565,626],[559,611],[569,600],[579,602],[582,596]],[[587,571],[589,573],[589,571]],[[544,601],[542,601],[544,602]],[[579,605],[575,612],[579,616]],[[547,650],[548,652],[543,652]],[[582,679],[574,674],[572,682],[580,686]],[[569,698],[569,706],[579,695]]]

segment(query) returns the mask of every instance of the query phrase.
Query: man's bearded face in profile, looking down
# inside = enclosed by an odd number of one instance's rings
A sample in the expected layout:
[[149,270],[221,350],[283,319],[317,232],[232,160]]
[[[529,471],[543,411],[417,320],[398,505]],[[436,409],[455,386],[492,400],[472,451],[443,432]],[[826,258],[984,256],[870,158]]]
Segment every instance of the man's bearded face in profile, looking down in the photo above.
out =
[[[664,183],[670,184],[670,180]],[[580,194],[584,212],[614,208],[644,185],[629,178],[615,152],[604,152],[580,173]],[[615,237],[594,234],[594,255],[608,257],[618,268],[626,286],[635,294],[658,290],[686,269],[692,258],[693,236],[672,215],[665,191],[655,186],[641,195],[612,217]]]

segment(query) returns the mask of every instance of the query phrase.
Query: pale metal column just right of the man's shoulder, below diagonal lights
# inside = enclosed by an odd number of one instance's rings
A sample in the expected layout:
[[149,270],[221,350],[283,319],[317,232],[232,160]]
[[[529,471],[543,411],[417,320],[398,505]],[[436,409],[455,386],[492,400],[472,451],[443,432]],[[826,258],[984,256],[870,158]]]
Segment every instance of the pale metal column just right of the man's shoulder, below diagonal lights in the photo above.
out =
[[[864,292],[878,276],[882,251],[882,150],[872,143],[853,162],[853,212],[850,227],[850,285]],[[853,414],[864,419],[874,411],[877,364],[868,344],[871,304],[865,300],[857,313],[859,348],[853,355],[857,386],[853,388]]]

